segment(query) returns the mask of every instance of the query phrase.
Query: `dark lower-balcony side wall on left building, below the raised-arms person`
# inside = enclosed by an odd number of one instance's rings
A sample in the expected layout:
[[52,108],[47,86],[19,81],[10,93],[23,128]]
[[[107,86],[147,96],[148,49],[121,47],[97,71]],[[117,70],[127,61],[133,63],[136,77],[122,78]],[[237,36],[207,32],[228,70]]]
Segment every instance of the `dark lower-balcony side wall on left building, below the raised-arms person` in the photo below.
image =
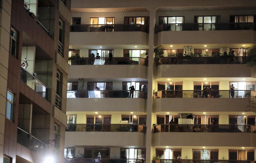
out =
[[19,105],[18,127],[28,133],[31,133],[32,127],[32,108],[32,104]]

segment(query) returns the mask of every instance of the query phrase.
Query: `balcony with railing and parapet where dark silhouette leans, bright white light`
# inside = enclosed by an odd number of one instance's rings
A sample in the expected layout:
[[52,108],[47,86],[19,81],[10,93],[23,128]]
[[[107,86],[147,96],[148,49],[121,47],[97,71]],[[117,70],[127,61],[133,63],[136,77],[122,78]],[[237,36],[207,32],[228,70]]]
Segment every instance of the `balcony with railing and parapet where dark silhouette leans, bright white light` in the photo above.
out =
[[145,112],[145,92],[134,91],[134,98],[128,97],[129,91],[68,91],[67,111],[121,111],[122,108],[122,111]]

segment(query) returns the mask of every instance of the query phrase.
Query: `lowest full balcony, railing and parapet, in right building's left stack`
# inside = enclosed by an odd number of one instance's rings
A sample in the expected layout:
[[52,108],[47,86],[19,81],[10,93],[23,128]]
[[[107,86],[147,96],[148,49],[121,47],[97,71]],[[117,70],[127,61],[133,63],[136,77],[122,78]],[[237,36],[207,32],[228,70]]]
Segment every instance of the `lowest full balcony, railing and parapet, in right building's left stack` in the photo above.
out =
[[[70,127],[70,126],[69,126]],[[139,146],[144,147],[143,125],[79,124],[65,133],[65,145],[72,146]],[[109,131],[110,130],[110,131]],[[85,131],[85,132],[83,132]],[[104,131],[104,132],[99,132]],[[86,139],[83,139],[86,138]],[[107,141],[106,141],[107,138]]]

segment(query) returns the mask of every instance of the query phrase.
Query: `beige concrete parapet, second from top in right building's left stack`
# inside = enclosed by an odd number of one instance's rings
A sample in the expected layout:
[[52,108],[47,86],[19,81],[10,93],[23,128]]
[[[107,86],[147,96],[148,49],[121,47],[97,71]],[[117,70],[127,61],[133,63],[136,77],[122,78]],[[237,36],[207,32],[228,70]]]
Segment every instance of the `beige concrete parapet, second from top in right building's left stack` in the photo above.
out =
[[[86,71],[83,71],[86,70]],[[142,65],[72,65],[68,78],[142,78],[146,79],[146,66]]]

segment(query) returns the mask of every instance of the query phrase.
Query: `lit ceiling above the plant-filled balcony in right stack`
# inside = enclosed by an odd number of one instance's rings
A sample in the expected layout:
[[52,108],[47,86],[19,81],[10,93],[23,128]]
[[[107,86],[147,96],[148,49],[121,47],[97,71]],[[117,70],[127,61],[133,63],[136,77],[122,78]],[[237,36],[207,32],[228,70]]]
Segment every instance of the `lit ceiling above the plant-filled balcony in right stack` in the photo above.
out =
[[[173,47],[170,47],[170,46]],[[207,47],[204,47],[204,45],[206,45]],[[243,45],[245,45],[244,47],[256,47],[255,44],[246,44],[246,43],[241,43],[241,44],[163,44],[163,48],[184,48],[184,46],[192,46],[192,48],[227,48],[229,50],[229,47],[232,48],[241,48],[243,47]]]

